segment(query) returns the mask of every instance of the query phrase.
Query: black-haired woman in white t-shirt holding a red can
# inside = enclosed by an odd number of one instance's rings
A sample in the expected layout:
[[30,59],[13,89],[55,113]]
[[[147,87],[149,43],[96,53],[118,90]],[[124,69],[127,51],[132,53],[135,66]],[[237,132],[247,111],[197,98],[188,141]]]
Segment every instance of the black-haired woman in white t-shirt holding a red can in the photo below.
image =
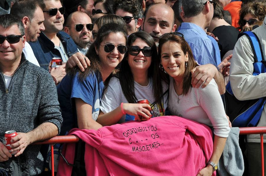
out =
[[[135,32],[128,37],[127,48],[120,71],[111,78],[100,102],[97,122],[102,125],[165,114],[168,80],[158,67],[160,61],[153,37],[144,31]],[[137,104],[138,99],[147,99],[149,105]]]

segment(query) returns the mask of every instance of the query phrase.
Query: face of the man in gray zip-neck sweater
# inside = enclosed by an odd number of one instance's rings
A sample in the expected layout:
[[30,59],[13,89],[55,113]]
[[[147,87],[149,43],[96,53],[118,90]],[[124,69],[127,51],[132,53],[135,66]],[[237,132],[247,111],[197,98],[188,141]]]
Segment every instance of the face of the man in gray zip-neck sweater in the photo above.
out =
[[[19,28],[16,24],[5,29],[3,26],[0,26],[0,36],[12,36],[12,35],[21,35]],[[22,40],[23,38],[23,40]],[[4,62],[16,62],[20,61],[22,49],[25,46],[25,35],[20,38],[20,41],[14,44],[10,44],[7,40],[4,40],[0,44],[0,63]],[[1,64],[0,64],[1,65]]]

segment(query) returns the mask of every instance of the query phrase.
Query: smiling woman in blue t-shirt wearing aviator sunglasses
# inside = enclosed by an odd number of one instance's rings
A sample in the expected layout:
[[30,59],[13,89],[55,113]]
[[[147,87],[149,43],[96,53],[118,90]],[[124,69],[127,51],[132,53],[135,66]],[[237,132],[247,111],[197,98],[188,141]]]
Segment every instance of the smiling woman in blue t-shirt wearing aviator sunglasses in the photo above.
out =
[[100,99],[104,85],[126,52],[126,31],[116,24],[103,25],[87,57],[91,66],[84,72],[70,69],[58,85],[58,98],[64,119],[61,135],[70,129],[98,129]]

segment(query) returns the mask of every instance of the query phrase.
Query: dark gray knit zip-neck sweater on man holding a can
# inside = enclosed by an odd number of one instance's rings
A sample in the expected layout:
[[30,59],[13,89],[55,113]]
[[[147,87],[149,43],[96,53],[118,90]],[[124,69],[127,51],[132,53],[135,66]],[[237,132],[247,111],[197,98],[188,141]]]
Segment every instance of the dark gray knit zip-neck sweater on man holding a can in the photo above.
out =
[[[0,72],[1,142],[7,130],[27,133],[44,122],[55,124],[59,133],[62,121],[56,86],[46,70],[28,62],[22,53],[20,66],[8,89]],[[40,173],[43,169],[40,145],[29,145],[19,157],[0,162],[0,169],[13,172],[13,175]]]

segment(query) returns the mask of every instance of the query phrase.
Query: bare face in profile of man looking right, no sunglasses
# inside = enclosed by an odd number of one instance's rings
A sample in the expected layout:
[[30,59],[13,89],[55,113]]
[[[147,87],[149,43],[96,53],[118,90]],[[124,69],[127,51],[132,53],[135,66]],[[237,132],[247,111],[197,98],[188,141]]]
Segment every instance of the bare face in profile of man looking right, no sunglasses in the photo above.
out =
[[44,21],[43,11],[39,6],[37,6],[37,9],[33,14],[33,18],[30,19],[29,24],[25,28],[25,35],[27,41],[35,42],[38,40],[40,32],[45,30],[43,21]]

